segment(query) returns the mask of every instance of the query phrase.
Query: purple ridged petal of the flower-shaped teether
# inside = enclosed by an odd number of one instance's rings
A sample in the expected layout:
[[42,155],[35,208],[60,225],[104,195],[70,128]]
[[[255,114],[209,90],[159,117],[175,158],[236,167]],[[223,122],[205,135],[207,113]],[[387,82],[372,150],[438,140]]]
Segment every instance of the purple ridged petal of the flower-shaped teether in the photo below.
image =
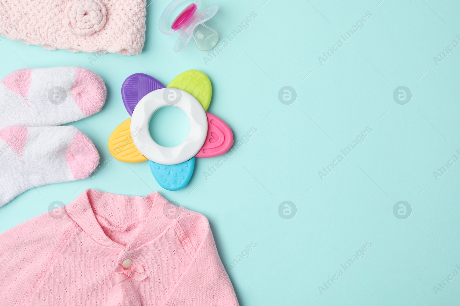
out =
[[134,73],[126,78],[121,85],[121,98],[125,104],[129,116],[132,116],[134,107],[138,105],[144,95],[156,90],[165,88],[160,81],[144,73]]

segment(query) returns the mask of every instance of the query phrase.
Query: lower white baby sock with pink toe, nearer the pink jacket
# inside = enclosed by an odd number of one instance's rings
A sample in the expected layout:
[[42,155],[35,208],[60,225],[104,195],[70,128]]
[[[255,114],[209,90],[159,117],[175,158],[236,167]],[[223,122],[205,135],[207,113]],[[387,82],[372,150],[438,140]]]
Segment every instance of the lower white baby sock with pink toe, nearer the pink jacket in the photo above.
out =
[[91,140],[73,126],[4,128],[0,206],[30,188],[87,178],[98,162]]

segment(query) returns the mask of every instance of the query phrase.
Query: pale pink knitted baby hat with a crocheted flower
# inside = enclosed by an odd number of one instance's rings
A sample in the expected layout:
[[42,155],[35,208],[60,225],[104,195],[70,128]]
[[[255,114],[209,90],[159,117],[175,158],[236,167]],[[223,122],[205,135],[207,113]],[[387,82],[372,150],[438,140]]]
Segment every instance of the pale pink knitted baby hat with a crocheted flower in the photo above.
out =
[[145,0],[0,1],[0,35],[46,50],[140,54]]

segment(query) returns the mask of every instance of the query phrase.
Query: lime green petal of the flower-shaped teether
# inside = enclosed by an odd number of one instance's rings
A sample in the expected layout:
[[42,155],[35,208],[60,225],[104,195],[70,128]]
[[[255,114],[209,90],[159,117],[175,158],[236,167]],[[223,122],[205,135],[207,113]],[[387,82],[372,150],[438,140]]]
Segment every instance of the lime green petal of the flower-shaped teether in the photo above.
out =
[[168,87],[182,89],[193,95],[205,111],[211,103],[211,80],[199,70],[182,72],[169,83]]

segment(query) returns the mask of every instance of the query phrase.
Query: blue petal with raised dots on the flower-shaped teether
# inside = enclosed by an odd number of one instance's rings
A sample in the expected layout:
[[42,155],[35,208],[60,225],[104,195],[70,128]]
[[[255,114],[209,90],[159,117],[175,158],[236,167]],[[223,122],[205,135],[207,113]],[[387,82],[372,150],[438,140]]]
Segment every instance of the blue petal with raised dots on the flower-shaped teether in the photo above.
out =
[[177,165],[162,165],[149,161],[153,177],[161,187],[176,191],[189,184],[195,168],[195,156]]

